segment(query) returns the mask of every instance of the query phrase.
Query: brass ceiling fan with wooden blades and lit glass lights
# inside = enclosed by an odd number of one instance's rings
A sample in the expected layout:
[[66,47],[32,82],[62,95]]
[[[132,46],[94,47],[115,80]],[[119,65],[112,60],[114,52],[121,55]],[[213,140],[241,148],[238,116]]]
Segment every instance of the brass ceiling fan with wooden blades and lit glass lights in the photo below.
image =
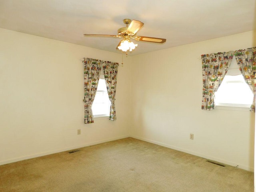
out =
[[114,37],[114,38],[122,38],[119,42],[116,49],[122,50],[126,52],[127,50],[134,50],[138,44],[134,44],[130,41],[130,38],[135,39],[137,41],[145,41],[145,42],[153,42],[153,43],[164,43],[166,39],[155,38],[155,37],[146,37],[146,36],[137,36],[137,32],[142,28],[144,23],[138,20],[130,20],[124,19],[124,24],[126,27],[122,27],[117,30],[117,35],[101,35],[101,34],[84,34],[84,36],[97,36],[97,37]]

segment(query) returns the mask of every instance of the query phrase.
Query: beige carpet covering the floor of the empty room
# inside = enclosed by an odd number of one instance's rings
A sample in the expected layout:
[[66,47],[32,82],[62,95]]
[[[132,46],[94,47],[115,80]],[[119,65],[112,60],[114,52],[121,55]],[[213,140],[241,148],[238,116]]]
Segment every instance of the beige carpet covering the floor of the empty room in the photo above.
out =
[[253,172],[125,138],[0,166],[0,192],[253,192]]

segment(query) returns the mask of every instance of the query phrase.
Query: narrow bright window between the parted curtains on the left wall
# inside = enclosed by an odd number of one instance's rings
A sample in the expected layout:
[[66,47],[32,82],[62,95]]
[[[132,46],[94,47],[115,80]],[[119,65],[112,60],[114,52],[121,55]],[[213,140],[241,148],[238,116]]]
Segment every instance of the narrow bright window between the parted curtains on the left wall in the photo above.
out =
[[108,98],[108,91],[104,75],[101,75],[97,92],[92,103],[92,113],[94,117],[106,117],[110,113],[110,100]]

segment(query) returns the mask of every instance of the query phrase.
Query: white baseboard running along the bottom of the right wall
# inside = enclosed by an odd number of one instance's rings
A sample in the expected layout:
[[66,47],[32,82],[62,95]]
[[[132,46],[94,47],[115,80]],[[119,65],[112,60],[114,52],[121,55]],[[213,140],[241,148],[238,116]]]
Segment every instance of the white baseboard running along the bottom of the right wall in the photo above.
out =
[[194,152],[194,151],[190,151],[190,150],[187,150],[187,149],[179,148],[179,147],[176,147],[176,146],[164,144],[164,143],[157,142],[157,141],[154,141],[154,140],[149,140],[149,139],[145,139],[145,138],[141,138],[141,137],[137,137],[137,136],[130,136],[130,137],[138,139],[138,140],[150,142],[150,143],[153,143],[153,144],[157,144],[157,145],[160,145],[160,146],[164,146],[164,147],[167,147],[167,148],[171,148],[171,149],[174,149],[174,150],[182,151],[182,152],[185,152],[185,153],[188,153],[188,154],[192,154],[192,155],[195,155],[195,156],[199,156],[199,157],[202,157],[202,158],[206,158],[208,160],[213,160],[213,161],[216,161],[216,162],[221,162],[221,163],[224,163],[224,164],[227,164],[227,165],[231,165],[231,166],[238,167],[238,168],[241,168],[241,169],[244,169],[244,170],[247,170],[247,171],[254,172],[254,168],[248,167],[248,166],[245,166],[245,165],[241,165],[241,164],[237,164],[235,162],[230,162],[230,161],[226,161],[226,160],[223,160],[223,159],[219,159],[219,158],[215,158],[215,157],[212,157],[212,156],[208,156],[208,155],[205,155],[205,154],[200,154],[198,152]]

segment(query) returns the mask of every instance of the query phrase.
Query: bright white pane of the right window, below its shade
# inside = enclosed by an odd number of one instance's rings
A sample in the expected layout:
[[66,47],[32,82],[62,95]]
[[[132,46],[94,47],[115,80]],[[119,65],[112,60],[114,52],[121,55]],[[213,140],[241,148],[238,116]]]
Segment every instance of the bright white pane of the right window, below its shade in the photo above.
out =
[[236,76],[226,75],[222,84],[215,92],[216,105],[227,104],[252,104],[253,94],[242,74]]

